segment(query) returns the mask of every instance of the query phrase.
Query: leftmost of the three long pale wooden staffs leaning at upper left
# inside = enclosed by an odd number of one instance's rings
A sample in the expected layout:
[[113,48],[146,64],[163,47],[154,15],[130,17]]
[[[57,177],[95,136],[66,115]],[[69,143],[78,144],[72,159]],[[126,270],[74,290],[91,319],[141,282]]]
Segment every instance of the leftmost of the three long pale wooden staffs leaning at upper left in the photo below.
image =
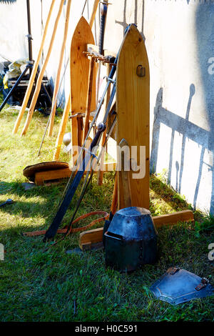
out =
[[41,59],[42,50],[44,48],[44,42],[45,42],[45,39],[46,39],[46,34],[47,34],[48,27],[49,27],[49,21],[51,19],[51,14],[52,14],[52,11],[53,11],[53,8],[54,8],[55,1],[56,0],[52,0],[52,3],[51,3],[51,7],[50,7],[50,10],[49,10],[49,15],[48,15],[48,17],[46,19],[46,25],[44,27],[44,33],[43,33],[43,36],[42,36],[42,39],[41,39],[41,46],[40,46],[40,49],[39,49],[39,54],[37,56],[36,61],[34,62],[34,67],[33,67],[32,72],[31,72],[31,78],[29,79],[29,85],[28,85],[28,88],[26,90],[26,94],[24,96],[24,101],[22,102],[19,115],[18,115],[18,117],[16,119],[16,123],[14,125],[13,134],[17,133],[17,131],[19,129],[20,122],[21,122],[21,119],[24,116],[24,112],[25,112],[26,106],[27,106],[27,104],[29,102],[29,97],[30,97],[32,88],[34,86],[34,80],[35,80],[36,72],[37,72],[37,69],[38,69],[38,66],[39,66],[39,61]]

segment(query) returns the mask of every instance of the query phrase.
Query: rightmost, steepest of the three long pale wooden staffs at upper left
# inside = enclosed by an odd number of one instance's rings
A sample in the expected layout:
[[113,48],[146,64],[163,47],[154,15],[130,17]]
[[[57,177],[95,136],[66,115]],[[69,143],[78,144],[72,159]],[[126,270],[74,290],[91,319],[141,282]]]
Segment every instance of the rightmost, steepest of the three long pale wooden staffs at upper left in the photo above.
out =
[[55,87],[54,87],[54,95],[53,95],[53,100],[52,100],[52,107],[51,107],[51,120],[50,120],[50,124],[49,124],[49,132],[48,135],[49,137],[51,137],[52,132],[53,132],[53,127],[54,127],[54,118],[55,118],[55,114],[56,114],[56,95],[58,93],[58,85],[59,85],[59,81],[60,81],[60,74],[61,74],[61,67],[63,64],[63,54],[64,54],[64,50],[66,47],[66,39],[68,36],[68,24],[69,24],[69,16],[70,16],[70,9],[71,9],[71,0],[68,0],[67,3],[67,8],[66,8],[66,21],[65,21],[65,28],[64,28],[64,34],[63,34],[63,42],[61,45],[61,54],[60,54],[60,58],[59,58],[59,64],[58,64],[58,71],[56,74],[56,83],[55,83]]

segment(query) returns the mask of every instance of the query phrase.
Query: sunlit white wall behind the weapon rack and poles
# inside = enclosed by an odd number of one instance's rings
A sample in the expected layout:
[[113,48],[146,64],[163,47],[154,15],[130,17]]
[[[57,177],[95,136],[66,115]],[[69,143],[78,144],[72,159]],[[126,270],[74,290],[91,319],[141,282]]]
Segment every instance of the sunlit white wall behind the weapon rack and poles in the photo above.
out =
[[[73,0],[66,56],[73,29],[81,15],[83,0]],[[56,0],[57,6],[59,0]],[[168,171],[169,183],[195,207],[214,212],[214,75],[208,74],[208,60],[214,56],[214,4],[199,0],[112,0],[108,8],[104,47],[118,51],[127,24],[136,23],[146,39],[151,68],[151,169]],[[51,0],[43,0],[46,20]],[[90,17],[93,0],[84,16]],[[56,6],[56,7],[57,7]],[[63,34],[59,24],[53,53],[47,68],[56,76]],[[55,10],[56,16],[56,10]],[[26,1],[0,3],[0,54],[9,59],[28,53]],[[41,1],[31,0],[34,58],[41,41]],[[96,29],[98,42],[98,14]],[[49,38],[51,27],[49,29]],[[44,48],[46,54],[47,45]],[[68,96],[69,74],[61,89]]]

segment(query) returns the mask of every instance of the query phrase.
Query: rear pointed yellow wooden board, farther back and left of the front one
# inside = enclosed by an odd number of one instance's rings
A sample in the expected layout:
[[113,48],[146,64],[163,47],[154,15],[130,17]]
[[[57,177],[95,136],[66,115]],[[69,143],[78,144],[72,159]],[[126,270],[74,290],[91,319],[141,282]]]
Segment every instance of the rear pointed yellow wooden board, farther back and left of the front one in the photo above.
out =
[[[83,51],[86,51],[87,44],[94,44],[91,28],[81,16],[71,41],[71,114],[86,112],[86,99],[88,92],[88,71],[89,60]],[[91,102],[91,111],[96,109],[96,71],[93,76],[93,94]],[[77,119],[71,119],[71,134],[73,146],[78,146],[78,124]]]

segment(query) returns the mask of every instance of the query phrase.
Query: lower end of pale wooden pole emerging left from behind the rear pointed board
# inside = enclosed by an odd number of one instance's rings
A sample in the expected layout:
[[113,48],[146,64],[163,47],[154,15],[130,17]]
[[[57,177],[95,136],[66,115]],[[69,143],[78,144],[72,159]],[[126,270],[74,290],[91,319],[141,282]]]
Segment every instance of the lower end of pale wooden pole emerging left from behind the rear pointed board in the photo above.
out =
[[63,111],[63,117],[61,119],[61,124],[58,130],[58,137],[56,139],[55,151],[54,151],[54,161],[58,161],[58,157],[61,151],[61,144],[63,142],[63,135],[66,132],[66,124],[68,122],[68,115],[71,110],[71,99],[68,99],[66,102],[66,106]]

